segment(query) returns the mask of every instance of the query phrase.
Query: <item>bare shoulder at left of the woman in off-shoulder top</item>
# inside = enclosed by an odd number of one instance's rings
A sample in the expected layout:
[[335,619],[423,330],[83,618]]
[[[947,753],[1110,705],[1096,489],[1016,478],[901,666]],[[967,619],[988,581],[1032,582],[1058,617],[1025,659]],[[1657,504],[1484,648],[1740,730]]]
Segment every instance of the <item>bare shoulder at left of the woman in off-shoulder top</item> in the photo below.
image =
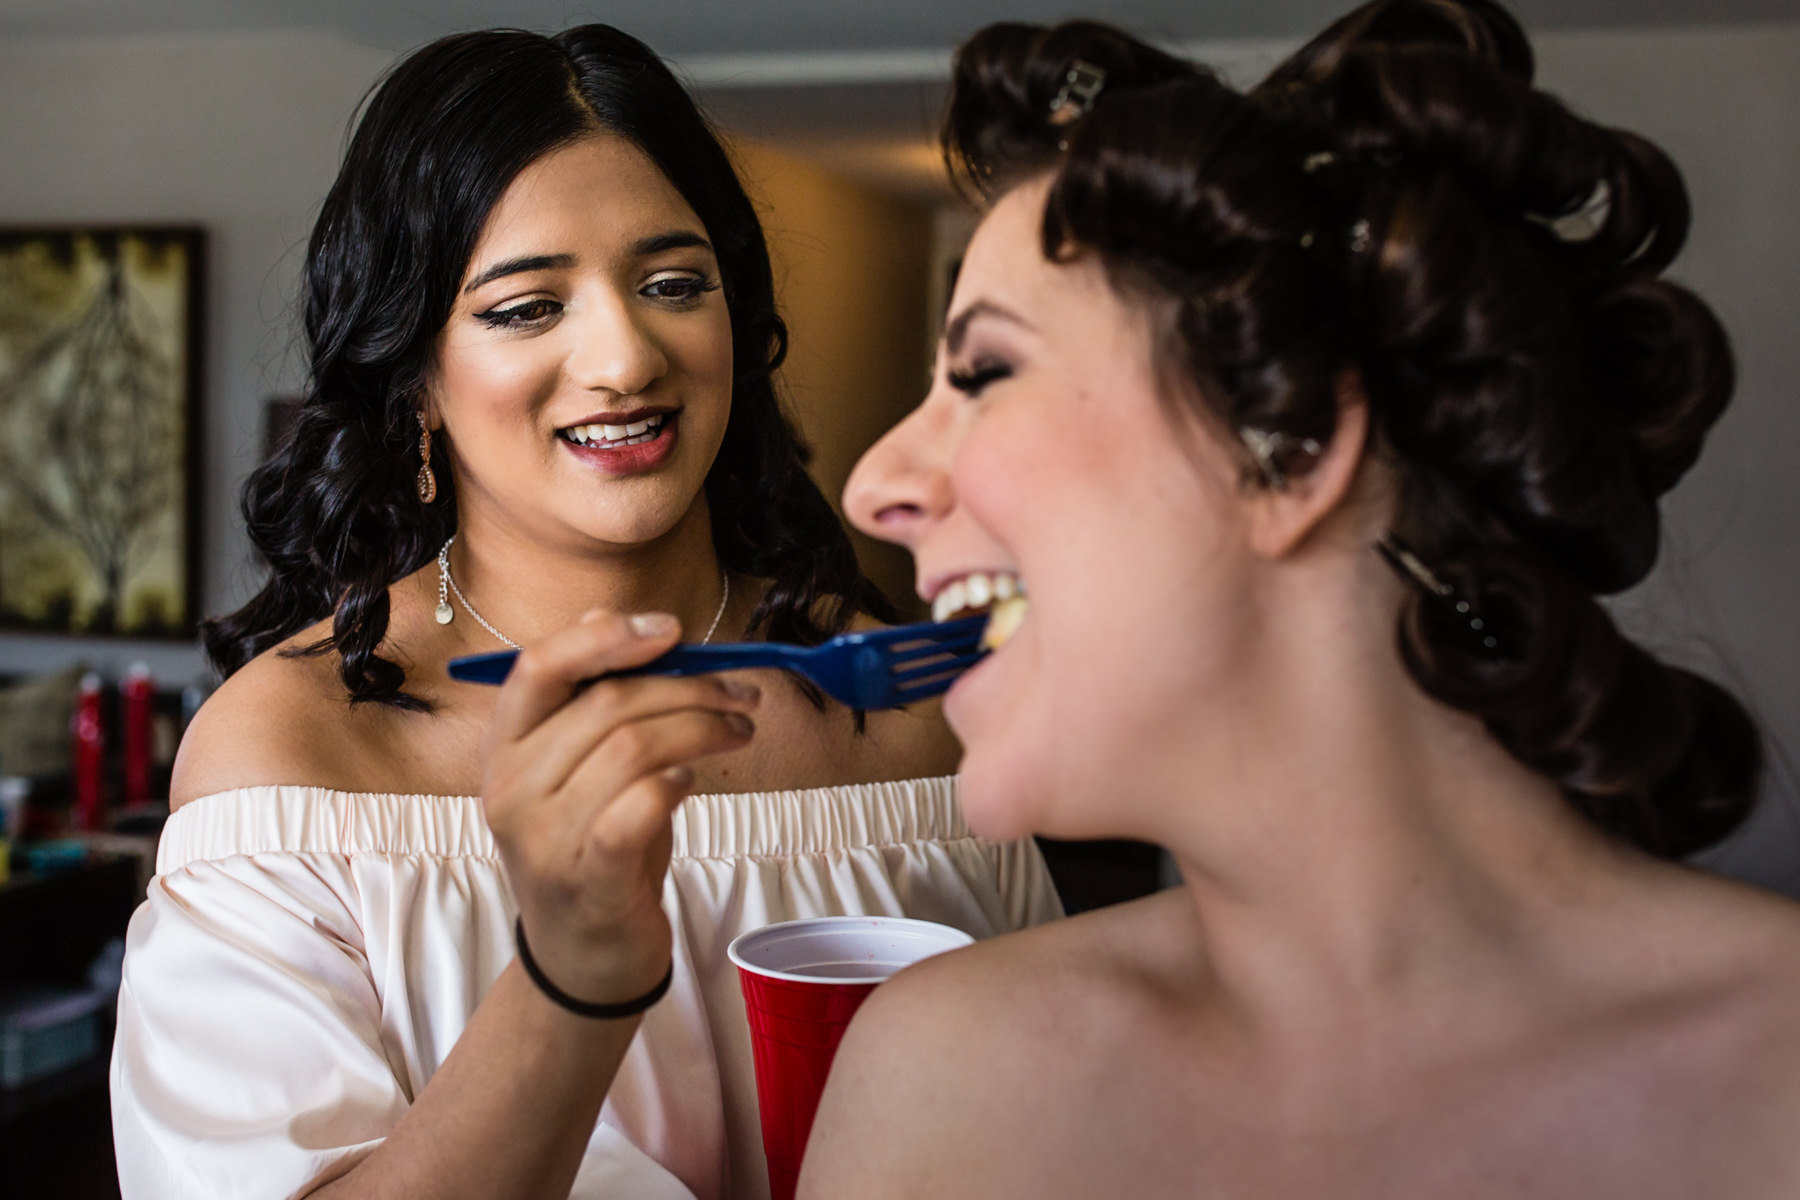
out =
[[295,655],[329,633],[319,624],[239,667],[200,707],[175,756],[171,808],[261,784],[344,786],[364,730],[335,655]]

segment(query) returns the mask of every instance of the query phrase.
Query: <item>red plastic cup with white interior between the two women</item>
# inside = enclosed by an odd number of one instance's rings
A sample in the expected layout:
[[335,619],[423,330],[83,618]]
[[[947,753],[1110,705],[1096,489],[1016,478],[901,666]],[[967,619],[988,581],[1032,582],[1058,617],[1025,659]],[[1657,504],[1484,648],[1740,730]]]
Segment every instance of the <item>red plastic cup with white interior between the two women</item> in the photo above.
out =
[[832,1056],[875,986],[920,959],[974,941],[907,918],[810,918],[733,939],[751,1018],[756,1101],[772,1200],[792,1200]]

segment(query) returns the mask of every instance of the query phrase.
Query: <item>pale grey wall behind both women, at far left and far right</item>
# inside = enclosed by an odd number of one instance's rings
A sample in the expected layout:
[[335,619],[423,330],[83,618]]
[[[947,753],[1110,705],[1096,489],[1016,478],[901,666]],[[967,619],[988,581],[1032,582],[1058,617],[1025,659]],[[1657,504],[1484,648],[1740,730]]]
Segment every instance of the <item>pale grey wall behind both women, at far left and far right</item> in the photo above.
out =
[[[1676,275],[1724,315],[1741,387],[1669,506],[1669,549],[1625,599],[1631,626],[1721,671],[1777,747],[1800,739],[1800,23],[1555,34],[1541,77],[1588,113],[1663,144],[1687,171],[1696,223]],[[1233,76],[1278,47],[1235,50]],[[1231,56],[1228,56],[1231,58]],[[198,221],[212,234],[202,603],[247,596],[238,482],[259,407],[299,383],[288,354],[299,252],[335,173],[344,124],[385,50],[326,36],[0,43],[0,221]],[[101,666],[140,644],[0,637],[0,671]],[[160,648],[169,678],[200,669]],[[1793,775],[1726,862],[1800,894]]]

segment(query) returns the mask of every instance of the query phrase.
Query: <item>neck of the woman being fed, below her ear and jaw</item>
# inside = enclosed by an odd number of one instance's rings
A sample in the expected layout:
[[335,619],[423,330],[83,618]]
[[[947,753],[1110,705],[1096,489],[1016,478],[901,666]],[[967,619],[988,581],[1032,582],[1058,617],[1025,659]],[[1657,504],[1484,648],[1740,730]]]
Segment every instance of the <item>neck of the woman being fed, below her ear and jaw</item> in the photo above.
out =
[[1418,689],[1388,581],[1298,587],[1273,601],[1280,637],[1256,669],[1195,714],[1213,729],[1174,743],[1192,761],[1159,772],[1192,795],[1156,840],[1183,869],[1211,984],[1312,1038],[1471,984],[1505,995],[1629,855]]

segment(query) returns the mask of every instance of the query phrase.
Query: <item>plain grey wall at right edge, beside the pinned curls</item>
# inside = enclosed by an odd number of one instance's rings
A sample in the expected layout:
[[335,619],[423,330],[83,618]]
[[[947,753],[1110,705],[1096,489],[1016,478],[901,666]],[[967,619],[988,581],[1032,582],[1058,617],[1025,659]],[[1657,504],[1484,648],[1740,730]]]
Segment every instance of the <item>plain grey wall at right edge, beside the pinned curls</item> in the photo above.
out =
[[1714,304],[1739,387],[1699,464],[1665,504],[1656,574],[1618,606],[1627,628],[1710,671],[1764,721],[1768,801],[1717,855],[1800,896],[1800,23],[1539,43],[1543,86],[1667,149],[1694,232],[1672,277]]

